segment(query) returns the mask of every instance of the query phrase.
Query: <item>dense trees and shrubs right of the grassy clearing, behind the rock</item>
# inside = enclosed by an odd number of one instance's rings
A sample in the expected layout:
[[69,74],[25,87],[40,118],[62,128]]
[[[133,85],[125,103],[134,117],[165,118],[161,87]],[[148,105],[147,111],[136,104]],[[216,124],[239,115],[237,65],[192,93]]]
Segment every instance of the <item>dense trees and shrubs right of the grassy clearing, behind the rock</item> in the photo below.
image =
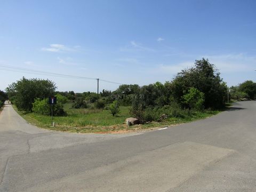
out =
[[169,117],[182,118],[205,109],[221,109],[227,101],[226,83],[218,69],[204,58],[196,60],[194,67],[182,70],[171,82],[124,87],[121,85],[116,93],[125,95],[134,90],[133,94],[138,97],[129,98],[131,114],[142,123]]

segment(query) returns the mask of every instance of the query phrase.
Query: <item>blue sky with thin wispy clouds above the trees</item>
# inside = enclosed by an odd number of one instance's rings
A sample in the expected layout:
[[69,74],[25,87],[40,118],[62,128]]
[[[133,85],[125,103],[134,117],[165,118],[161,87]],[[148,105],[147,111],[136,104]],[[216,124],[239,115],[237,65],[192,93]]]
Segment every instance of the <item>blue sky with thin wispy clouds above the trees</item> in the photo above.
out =
[[[204,57],[229,86],[256,81],[255,10],[254,0],[0,0],[0,65],[145,85]],[[94,80],[0,73],[0,90],[25,76],[97,91]]]

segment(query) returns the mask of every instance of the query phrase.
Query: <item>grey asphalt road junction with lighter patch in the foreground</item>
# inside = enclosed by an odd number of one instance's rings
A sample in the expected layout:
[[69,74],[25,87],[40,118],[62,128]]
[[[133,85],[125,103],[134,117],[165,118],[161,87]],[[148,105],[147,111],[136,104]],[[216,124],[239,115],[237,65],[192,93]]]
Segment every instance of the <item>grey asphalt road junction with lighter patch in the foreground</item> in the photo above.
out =
[[[256,102],[143,134],[73,134],[0,114],[0,191],[256,191]],[[128,137],[129,136],[129,137]]]

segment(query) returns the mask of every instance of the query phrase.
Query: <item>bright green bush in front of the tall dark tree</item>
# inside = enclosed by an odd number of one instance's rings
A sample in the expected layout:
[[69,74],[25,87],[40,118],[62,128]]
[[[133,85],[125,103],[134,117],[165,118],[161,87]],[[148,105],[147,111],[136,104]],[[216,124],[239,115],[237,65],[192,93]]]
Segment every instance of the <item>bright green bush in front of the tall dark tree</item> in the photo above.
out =
[[183,96],[183,103],[188,105],[189,109],[202,110],[204,108],[204,93],[195,87],[191,87],[188,93]]

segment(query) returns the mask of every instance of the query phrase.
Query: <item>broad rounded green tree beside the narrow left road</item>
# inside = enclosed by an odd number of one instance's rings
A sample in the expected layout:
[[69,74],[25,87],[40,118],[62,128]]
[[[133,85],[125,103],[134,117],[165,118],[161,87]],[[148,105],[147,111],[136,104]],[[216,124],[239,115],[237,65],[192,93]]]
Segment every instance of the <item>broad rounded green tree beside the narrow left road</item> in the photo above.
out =
[[52,96],[56,89],[55,83],[44,79],[26,79],[23,77],[6,88],[9,99],[19,110],[31,111],[35,99]]

